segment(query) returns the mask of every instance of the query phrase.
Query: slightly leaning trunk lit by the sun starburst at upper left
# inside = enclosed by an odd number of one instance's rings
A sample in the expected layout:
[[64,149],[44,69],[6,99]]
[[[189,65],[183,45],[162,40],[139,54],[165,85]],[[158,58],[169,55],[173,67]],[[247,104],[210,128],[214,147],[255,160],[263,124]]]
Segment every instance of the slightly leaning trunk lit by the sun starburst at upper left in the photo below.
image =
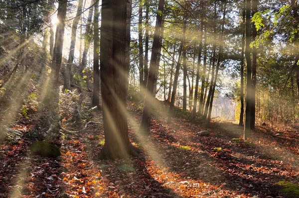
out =
[[55,34],[55,44],[53,49],[53,60],[52,60],[52,83],[57,86],[59,79],[59,71],[62,60],[62,48],[63,48],[63,36],[64,36],[64,26],[65,26],[65,17],[66,17],[66,7],[67,0],[59,0],[58,1],[58,10],[57,10],[57,18],[59,22],[56,26],[56,34]]

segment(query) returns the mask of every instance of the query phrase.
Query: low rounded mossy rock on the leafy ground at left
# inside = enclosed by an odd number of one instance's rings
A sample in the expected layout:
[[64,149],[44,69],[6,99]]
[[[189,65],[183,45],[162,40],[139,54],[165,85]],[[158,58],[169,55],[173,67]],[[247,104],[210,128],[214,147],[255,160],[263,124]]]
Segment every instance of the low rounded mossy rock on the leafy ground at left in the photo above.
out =
[[57,146],[48,142],[34,142],[30,146],[30,151],[33,155],[39,155],[42,157],[56,158],[61,155],[60,150]]

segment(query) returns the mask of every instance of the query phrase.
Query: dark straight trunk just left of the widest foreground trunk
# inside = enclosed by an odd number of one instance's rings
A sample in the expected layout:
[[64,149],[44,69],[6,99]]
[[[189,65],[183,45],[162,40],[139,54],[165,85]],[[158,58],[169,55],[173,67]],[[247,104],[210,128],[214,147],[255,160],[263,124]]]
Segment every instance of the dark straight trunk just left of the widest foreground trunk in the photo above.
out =
[[94,59],[93,59],[93,73],[94,73],[94,90],[92,96],[92,104],[99,106],[99,91],[100,91],[100,71],[99,71],[99,1],[96,0],[94,5]]

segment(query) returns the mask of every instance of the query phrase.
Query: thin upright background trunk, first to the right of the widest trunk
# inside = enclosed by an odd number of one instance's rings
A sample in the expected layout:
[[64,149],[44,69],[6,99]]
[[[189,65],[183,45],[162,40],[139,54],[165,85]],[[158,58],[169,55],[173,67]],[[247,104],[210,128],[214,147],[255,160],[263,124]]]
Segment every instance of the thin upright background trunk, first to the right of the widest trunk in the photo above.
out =
[[138,45],[139,45],[139,82],[140,90],[144,86],[144,57],[143,57],[143,42],[142,42],[142,0],[139,1],[139,20],[138,20]]

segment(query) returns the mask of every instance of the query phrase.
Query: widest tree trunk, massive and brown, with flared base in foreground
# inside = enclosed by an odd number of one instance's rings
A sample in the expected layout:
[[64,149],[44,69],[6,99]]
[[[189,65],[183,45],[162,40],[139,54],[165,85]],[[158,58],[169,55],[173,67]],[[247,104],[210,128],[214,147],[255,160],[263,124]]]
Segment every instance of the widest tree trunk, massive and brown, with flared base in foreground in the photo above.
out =
[[101,90],[105,145],[100,159],[128,158],[134,154],[128,134],[126,64],[127,1],[102,0]]

